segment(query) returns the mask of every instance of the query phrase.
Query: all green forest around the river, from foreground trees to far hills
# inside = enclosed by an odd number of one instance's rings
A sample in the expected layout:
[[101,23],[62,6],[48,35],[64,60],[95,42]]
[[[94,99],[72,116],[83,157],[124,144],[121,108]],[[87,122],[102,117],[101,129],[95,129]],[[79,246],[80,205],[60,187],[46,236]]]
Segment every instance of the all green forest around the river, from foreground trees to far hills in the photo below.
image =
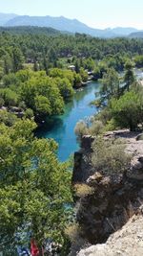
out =
[[76,133],[138,128],[143,91],[133,76],[135,66],[143,67],[142,39],[0,29],[0,250],[5,248],[6,255],[17,255],[17,248],[30,245],[31,238],[40,255],[46,241],[68,255],[71,162],[58,161],[52,139],[33,135],[35,122],[63,113],[74,89],[92,74],[102,84],[99,101],[92,103],[101,111],[90,128],[77,124]]

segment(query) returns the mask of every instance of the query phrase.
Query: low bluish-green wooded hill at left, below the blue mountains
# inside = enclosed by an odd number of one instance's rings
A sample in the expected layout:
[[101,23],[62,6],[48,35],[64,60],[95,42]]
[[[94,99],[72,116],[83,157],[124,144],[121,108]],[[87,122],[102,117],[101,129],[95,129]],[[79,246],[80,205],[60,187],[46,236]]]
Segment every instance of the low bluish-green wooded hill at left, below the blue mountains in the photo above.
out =
[[31,26],[0,27],[0,33],[9,32],[12,35],[60,35],[60,32],[52,28],[39,28]]

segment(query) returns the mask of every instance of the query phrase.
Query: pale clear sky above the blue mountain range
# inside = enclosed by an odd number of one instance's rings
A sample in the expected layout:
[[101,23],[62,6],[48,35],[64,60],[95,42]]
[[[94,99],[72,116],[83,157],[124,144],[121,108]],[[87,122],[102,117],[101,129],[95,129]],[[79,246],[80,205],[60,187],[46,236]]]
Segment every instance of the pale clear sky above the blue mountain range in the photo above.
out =
[[0,12],[64,15],[93,28],[143,29],[143,0],[0,0]]

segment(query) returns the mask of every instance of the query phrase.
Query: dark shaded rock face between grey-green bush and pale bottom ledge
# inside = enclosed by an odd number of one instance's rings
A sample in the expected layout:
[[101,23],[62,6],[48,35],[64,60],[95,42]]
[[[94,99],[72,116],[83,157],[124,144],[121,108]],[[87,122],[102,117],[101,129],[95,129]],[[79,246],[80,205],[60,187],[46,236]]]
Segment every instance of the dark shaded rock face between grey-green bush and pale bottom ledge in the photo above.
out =
[[143,202],[143,182],[126,175],[93,175],[87,182],[92,195],[80,198],[77,212],[83,236],[90,244],[105,242]]

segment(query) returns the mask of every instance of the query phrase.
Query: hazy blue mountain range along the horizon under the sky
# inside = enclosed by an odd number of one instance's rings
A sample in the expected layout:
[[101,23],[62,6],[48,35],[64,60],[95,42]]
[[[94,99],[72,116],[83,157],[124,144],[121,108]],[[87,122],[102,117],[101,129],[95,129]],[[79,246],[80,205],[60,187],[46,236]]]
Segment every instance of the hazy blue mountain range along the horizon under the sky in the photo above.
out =
[[[3,13],[1,13],[2,15]],[[29,15],[16,15],[8,16],[7,21],[0,22],[0,26],[15,27],[15,26],[36,26],[36,27],[49,27],[61,32],[80,33],[97,37],[116,37],[128,36],[132,33],[138,32],[134,28],[114,28],[114,29],[93,29],[86,24],[78,21],[77,19],[69,19],[64,16],[51,17],[51,16],[29,16]]]

